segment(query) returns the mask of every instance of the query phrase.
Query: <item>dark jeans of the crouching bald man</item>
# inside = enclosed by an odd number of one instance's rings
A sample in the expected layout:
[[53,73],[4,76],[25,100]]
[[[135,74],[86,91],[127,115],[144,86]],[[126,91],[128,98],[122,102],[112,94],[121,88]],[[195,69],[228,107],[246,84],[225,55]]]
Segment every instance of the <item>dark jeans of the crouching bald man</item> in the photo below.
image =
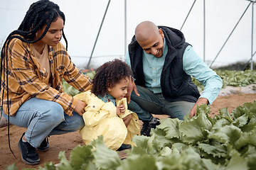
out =
[[195,105],[188,101],[166,101],[162,94],[154,94],[149,89],[137,86],[140,96],[132,91],[131,101],[128,104],[130,111],[137,113],[139,120],[150,121],[155,115],[169,115],[170,118],[183,120],[184,116],[190,113]]

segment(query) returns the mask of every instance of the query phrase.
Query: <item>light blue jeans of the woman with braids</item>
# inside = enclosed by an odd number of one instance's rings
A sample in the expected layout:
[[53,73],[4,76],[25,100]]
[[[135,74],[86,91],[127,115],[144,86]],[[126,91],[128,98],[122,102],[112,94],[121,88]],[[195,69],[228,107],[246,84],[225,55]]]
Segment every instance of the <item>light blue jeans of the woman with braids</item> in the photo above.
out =
[[[8,115],[3,114],[8,120]],[[27,128],[25,139],[33,147],[39,147],[48,135],[61,135],[80,130],[84,125],[82,116],[64,113],[63,107],[54,101],[31,98],[23,103],[16,115],[9,116],[10,123]]]

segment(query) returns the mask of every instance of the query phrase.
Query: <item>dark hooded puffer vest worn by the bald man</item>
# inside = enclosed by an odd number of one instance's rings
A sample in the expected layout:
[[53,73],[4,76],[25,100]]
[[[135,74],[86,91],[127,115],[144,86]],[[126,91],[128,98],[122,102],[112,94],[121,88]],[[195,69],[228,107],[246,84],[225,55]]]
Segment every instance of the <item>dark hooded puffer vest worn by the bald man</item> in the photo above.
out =
[[[168,53],[161,72],[161,90],[167,101],[190,101],[196,102],[200,96],[199,91],[191,80],[191,76],[183,71],[183,53],[189,45],[181,31],[166,26],[159,26],[164,32]],[[132,71],[134,72],[135,84],[145,86],[142,67],[143,49],[140,47],[135,36],[129,44],[129,57]]]

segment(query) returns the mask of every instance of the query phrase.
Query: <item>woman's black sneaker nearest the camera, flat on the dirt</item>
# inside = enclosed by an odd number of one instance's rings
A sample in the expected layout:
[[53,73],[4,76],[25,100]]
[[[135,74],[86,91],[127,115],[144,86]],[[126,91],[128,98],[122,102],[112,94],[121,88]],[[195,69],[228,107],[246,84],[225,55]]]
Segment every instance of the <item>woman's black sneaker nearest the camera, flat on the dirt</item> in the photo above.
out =
[[[23,133],[25,135],[25,133]],[[21,159],[25,164],[36,165],[40,163],[36,148],[32,147],[28,142],[22,142],[22,137],[18,141],[18,149],[21,151]]]

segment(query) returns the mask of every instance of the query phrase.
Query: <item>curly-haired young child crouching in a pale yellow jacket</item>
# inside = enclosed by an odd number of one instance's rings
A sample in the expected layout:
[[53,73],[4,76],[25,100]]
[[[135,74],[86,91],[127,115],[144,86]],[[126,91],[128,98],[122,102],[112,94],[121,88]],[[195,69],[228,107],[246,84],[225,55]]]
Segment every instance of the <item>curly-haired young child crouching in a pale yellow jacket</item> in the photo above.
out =
[[[78,94],[75,98],[85,101],[82,118],[85,127],[80,135],[85,145],[103,135],[107,147],[117,150],[134,145],[132,137],[140,135],[136,113],[127,110],[126,94],[132,71],[121,60],[106,62],[96,70],[91,91]],[[119,150],[120,150],[119,149]]]

